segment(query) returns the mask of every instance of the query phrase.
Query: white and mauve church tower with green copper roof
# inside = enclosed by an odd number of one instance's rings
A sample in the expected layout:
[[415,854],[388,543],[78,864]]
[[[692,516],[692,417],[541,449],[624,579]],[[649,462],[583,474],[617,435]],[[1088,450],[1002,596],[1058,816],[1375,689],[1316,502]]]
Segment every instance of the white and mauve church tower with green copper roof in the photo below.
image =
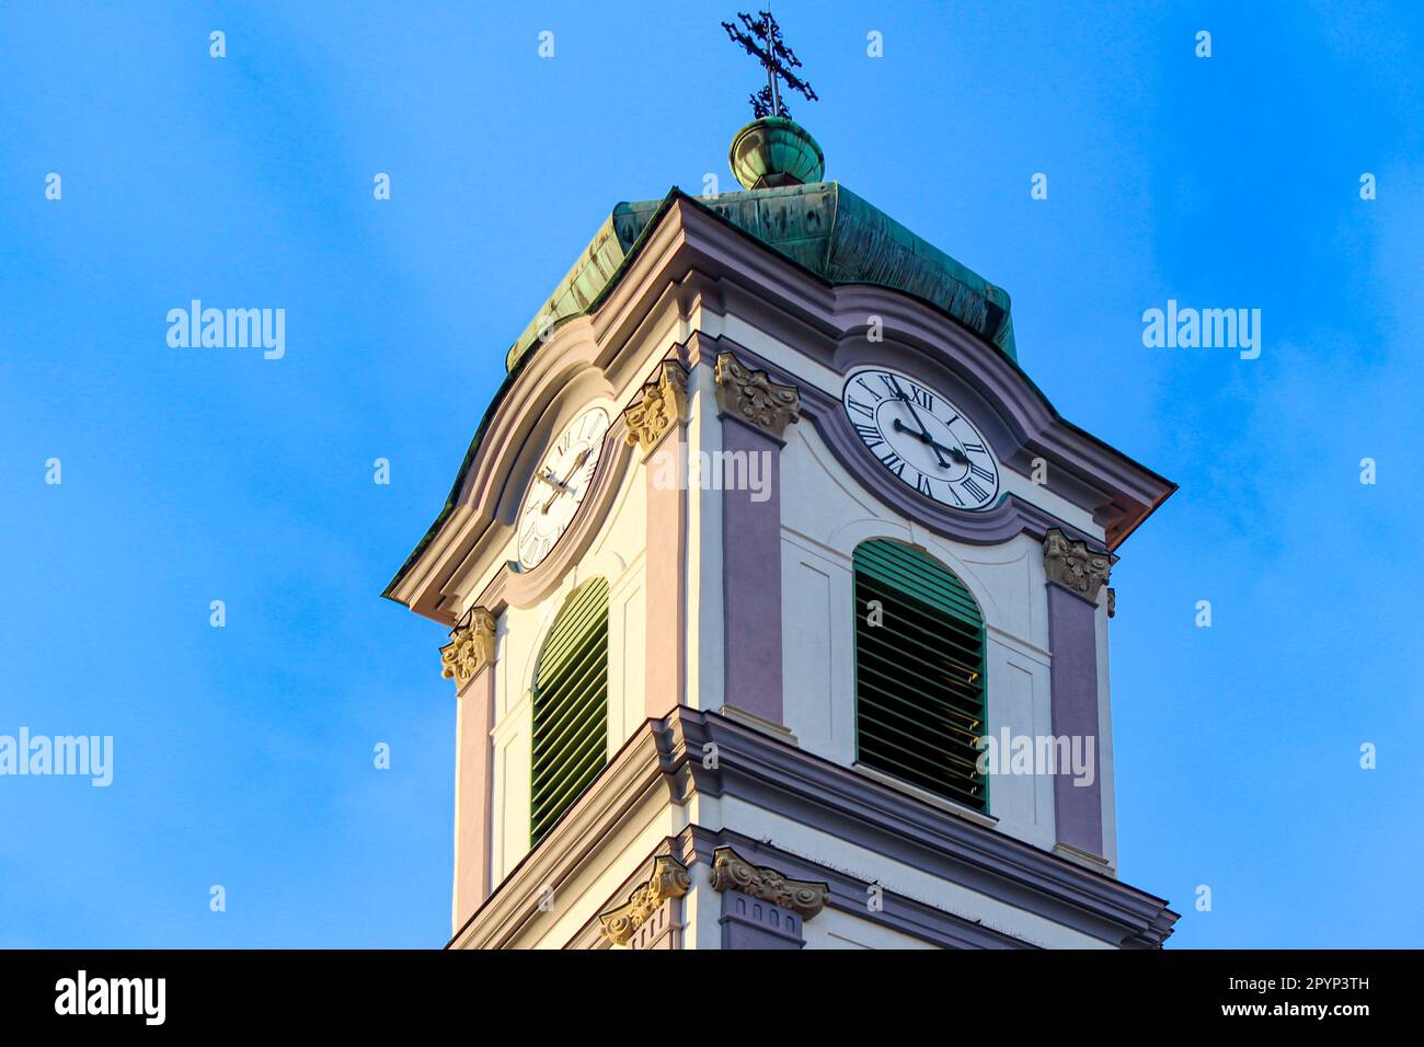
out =
[[618,204],[386,595],[444,625],[459,949],[1159,947],[1109,571],[1175,489],[780,115]]

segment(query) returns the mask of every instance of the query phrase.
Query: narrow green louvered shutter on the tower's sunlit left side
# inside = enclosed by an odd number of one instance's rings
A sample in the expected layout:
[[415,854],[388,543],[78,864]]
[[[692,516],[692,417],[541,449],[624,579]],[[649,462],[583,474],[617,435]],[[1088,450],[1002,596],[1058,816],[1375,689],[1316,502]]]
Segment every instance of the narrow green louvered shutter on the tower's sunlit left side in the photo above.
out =
[[608,761],[608,583],[578,588],[554,620],[534,674],[531,843]]

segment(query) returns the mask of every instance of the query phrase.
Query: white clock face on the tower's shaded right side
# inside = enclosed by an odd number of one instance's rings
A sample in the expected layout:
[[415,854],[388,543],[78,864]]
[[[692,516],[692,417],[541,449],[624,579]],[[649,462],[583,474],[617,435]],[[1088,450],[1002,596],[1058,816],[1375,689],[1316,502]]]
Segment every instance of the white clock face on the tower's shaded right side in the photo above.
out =
[[906,486],[951,509],[994,504],[994,452],[936,390],[893,370],[866,368],[846,379],[842,405],[870,453]]

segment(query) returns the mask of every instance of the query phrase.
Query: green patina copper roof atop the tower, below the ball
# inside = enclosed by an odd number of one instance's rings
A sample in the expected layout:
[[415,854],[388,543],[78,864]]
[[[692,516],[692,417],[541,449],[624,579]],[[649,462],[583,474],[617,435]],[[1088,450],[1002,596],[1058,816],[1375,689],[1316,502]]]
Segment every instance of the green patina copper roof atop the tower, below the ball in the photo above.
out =
[[1018,360],[1008,293],[839,182],[785,185],[718,197],[672,189],[662,199],[619,204],[510,348],[514,363],[541,330],[592,309],[617,282],[654,217],[674,199],[701,207],[830,283],[877,283],[921,298]]

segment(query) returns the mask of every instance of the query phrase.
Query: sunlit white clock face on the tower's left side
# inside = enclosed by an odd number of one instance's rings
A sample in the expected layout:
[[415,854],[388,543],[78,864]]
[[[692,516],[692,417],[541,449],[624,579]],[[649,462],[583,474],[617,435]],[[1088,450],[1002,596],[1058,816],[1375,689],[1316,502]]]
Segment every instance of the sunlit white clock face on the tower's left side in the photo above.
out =
[[520,509],[520,566],[537,567],[584,504],[608,434],[608,412],[590,407],[560,433],[534,469]]

